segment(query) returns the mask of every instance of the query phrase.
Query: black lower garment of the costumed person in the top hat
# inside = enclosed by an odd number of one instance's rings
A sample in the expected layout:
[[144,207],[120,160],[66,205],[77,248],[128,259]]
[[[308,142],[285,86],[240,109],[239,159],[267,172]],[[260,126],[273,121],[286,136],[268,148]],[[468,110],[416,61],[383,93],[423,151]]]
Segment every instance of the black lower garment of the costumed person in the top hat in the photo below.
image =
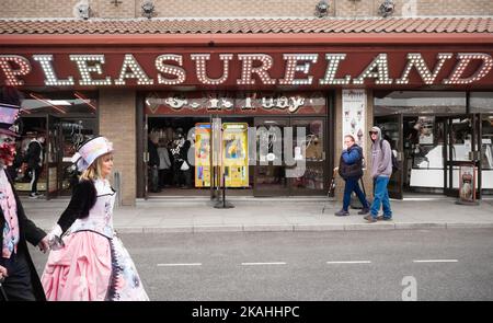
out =
[[[9,259],[0,257],[0,265],[5,267],[9,274],[2,284],[9,301],[35,301],[31,270],[24,255],[12,254]],[[1,295],[0,300],[3,300]]]

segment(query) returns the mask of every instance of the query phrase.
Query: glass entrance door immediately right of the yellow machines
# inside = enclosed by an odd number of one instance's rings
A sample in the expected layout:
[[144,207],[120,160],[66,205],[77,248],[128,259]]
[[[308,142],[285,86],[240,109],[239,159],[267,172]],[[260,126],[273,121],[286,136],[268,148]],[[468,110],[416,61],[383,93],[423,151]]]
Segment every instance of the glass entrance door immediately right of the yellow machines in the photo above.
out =
[[289,194],[289,178],[286,177],[284,160],[284,128],[288,118],[255,118],[256,166],[254,196],[286,196]]

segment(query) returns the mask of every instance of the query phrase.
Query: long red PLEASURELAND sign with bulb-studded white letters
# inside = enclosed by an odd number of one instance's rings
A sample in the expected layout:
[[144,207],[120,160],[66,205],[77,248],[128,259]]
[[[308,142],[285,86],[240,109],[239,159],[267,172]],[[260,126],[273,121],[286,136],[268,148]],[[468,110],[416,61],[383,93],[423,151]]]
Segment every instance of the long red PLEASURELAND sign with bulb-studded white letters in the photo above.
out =
[[[262,89],[493,86],[492,51],[0,53],[0,84]],[[26,51],[26,53],[24,53]]]

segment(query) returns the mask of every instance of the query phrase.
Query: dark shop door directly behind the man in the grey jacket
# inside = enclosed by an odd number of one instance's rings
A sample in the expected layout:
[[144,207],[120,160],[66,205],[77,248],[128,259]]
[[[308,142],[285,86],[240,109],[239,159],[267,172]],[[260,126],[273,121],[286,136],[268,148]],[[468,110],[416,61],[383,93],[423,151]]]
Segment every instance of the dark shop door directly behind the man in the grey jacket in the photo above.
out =
[[[402,184],[403,184],[403,118],[402,114],[390,116],[375,117],[375,125],[381,129],[381,134],[386,140],[389,141],[392,153],[399,161],[399,171],[392,173],[390,177],[388,191],[390,198],[402,199]],[[369,157],[370,158],[370,157]],[[369,172],[369,161],[366,162],[367,172]]]

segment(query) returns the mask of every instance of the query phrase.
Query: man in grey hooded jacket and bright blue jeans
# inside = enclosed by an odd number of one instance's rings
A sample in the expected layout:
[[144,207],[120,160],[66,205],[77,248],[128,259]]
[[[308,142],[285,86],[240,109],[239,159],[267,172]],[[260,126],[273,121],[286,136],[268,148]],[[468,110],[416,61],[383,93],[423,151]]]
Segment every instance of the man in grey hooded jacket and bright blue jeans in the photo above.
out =
[[[372,223],[377,220],[391,220],[392,210],[390,209],[389,192],[387,185],[392,175],[392,150],[390,143],[383,140],[379,127],[372,127],[370,130],[371,137],[371,177],[374,178],[374,203],[370,207],[370,214],[364,219]],[[380,143],[380,141],[382,141]],[[383,216],[377,217],[380,210],[380,205],[383,208]]]

